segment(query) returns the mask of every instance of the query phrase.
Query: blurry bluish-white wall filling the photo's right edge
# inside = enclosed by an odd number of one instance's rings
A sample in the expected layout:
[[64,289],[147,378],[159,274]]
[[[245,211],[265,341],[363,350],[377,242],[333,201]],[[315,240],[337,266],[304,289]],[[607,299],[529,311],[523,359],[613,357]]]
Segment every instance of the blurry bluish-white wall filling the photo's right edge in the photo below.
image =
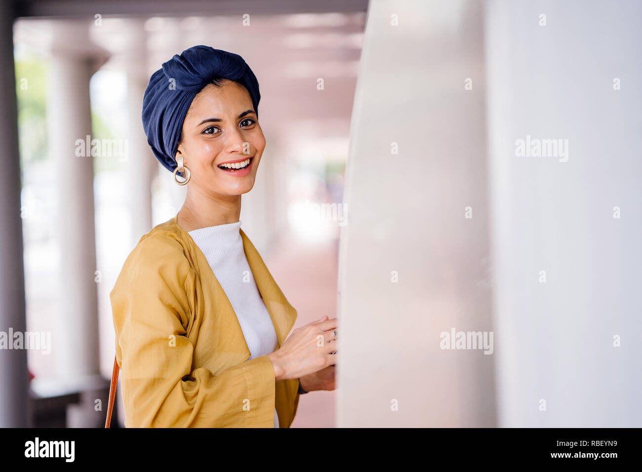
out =
[[[499,425],[639,427],[642,4],[486,19]],[[517,157],[526,135],[568,139],[568,161]]]

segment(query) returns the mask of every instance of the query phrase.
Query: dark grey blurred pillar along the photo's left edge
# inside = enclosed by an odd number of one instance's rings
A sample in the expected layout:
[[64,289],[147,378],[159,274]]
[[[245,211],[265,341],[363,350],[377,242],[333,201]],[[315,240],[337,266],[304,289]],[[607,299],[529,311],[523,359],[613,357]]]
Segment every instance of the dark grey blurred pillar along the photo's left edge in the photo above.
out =
[[[12,3],[0,0],[0,331],[7,335],[26,330]],[[26,350],[0,350],[0,379],[0,428],[28,426]]]

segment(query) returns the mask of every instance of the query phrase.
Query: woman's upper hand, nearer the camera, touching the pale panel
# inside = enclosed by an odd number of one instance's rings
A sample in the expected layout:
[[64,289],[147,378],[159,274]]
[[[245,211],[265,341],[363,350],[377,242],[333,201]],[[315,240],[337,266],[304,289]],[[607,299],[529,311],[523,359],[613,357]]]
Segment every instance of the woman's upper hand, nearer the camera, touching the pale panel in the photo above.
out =
[[274,366],[275,381],[297,379],[335,363],[336,354],[330,353],[336,351],[333,330],[338,328],[338,321],[327,319],[325,315],[292,331],[277,351],[268,354]]

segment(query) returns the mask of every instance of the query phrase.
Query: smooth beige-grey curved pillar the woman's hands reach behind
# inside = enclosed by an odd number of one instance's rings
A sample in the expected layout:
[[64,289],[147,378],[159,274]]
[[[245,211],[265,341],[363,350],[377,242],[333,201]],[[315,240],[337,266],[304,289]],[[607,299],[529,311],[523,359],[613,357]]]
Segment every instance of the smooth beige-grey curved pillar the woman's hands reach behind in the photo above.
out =
[[481,13],[370,2],[340,229],[339,427],[495,424],[493,356],[442,348],[453,329],[492,332]]

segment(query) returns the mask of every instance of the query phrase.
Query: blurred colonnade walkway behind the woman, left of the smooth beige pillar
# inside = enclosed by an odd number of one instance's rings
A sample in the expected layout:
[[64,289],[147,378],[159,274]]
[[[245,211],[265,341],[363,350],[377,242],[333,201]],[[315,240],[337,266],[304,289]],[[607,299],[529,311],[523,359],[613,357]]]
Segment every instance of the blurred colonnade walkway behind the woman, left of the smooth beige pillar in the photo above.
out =
[[[111,376],[109,293],[141,236],[183,204],[186,187],[146,143],[141,103],[152,73],[196,44],[238,53],[259,79],[267,147],[243,196],[243,230],[297,308],[297,326],[336,316],[367,1],[13,6],[26,322],[52,343],[47,354],[28,349],[28,369],[35,395],[59,398],[65,424],[97,421],[87,410]],[[304,396],[293,426],[334,426],[333,398]]]

